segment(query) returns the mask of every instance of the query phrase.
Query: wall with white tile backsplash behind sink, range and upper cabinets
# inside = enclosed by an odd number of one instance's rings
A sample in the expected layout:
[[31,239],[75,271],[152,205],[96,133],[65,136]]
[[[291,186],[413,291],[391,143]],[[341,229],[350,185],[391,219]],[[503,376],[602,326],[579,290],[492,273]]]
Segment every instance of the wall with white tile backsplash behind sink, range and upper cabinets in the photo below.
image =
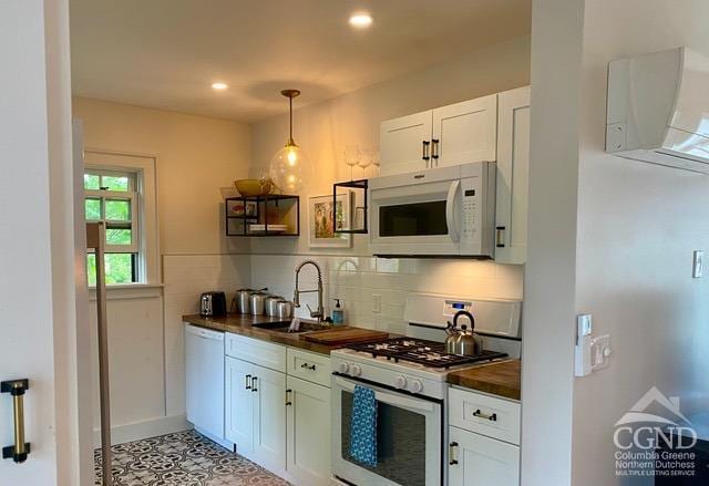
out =
[[[401,331],[407,291],[452,292],[472,297],[522,298],[522,267],[479,261],[382,260],[371,257],[368,235],[354,235],[351,249],[310,249],[308,196],[332,194],[336,180],[350,178],[342,161],[347,145],[378,146],[382,121],[528,84],[530,39],[513,41],[446,60],[439,65],[368,86],[294,113],[295,138],[314,161],[315,176],[301,196],[300,238],[259,239],[254,245],[254,286],[291,298],[294,269],[302,255],[317,256],[327,269],[328,298],[340,297],[357,325]],[[296,86],[297,87],[297,86]],[[298,107],[296,99],[296,108]],[[253,125],[254,176],[282,146],[288,116]],[[361,176],[354,168],[354,176]],[[367,176],[371,177],[369,169]],[[269,255],[269,257],[265,257]],[[271,257],[270,255],[278,255]],[[291,255],[298,255],[291,258]],[[351,257],[347,261],[343,256]],[[347,261],[345,270],[340,265]],[[446,276],[450,278],[446,279]],[[373,293],[382,294],[381,314],[371,312]],[[329,300],[327,306],[332,304]]]

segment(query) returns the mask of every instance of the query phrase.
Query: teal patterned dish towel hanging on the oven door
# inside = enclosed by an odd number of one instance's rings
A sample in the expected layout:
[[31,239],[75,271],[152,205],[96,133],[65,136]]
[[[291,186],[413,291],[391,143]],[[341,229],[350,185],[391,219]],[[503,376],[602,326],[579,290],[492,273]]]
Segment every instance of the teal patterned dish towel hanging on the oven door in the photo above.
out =
[[350,422],[350,457],[366,466],[377,467],[377,399],[374,391],[354,386]]

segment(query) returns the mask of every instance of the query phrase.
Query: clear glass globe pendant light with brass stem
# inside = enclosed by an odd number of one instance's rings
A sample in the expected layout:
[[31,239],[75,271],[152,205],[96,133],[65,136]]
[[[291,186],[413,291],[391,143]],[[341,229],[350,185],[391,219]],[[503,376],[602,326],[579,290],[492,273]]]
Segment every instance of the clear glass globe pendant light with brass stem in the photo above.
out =
[[306,153],[292,139],[292,99],[300,94],[298,90],[280,92],[290,105],[290,131],[288,142],[270,161],[269,174],[276,186],[286,194],[298,194],[310,177],[310,161]]

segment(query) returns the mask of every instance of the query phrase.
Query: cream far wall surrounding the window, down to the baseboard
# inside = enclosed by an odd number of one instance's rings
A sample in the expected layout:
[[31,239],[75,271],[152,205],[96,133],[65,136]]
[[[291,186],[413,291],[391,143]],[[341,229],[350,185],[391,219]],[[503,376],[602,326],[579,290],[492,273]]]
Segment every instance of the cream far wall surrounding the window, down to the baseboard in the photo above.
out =
[[[249,246],[224,236],[219,187],[246,176],[250,128],[81,97],[73,100],[73,116],[83,121],[86,147],[154,156],[157,166],[164,288],[109,290],[113,440],[186,427],[181,317],[197,311],[201,292],[233,292],[249,272],[248,259],[227,256]],[[94,389],[94,413],[96,407]]]

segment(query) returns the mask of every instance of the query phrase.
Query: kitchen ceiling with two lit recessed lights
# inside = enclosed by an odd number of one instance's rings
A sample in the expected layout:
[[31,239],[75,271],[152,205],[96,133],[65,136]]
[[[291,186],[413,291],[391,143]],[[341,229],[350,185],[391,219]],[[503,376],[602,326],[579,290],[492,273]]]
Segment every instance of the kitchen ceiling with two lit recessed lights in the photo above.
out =
[[[75,95],[254,122],[530,32],[531,0],[71,0]],[[368,11],[370,29],[348,24]],[[210,84],[229,89],[215,92]]]

